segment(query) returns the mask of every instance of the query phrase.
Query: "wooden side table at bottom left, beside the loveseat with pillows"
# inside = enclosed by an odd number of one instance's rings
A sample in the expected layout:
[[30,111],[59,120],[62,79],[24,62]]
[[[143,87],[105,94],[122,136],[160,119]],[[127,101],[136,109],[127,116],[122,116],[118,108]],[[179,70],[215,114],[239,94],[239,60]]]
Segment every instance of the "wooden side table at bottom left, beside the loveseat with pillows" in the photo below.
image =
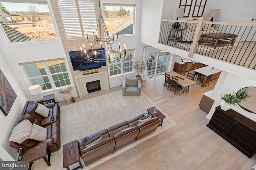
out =
[[[46,158],[46,155],[48,154],[48,158]],[[22,156],[22,161],[28,161],[29,168],[28,170],[31,170],[32,164],[35,160],[38,160],[40,158],[43,158],[44,161],[48,166],[50,166],[50,157],[51,154],[47,149],[47,143],[44,143],[42,145],[38,145],[36,147],[33,147],[31,149],[25,150],[25,153]]]

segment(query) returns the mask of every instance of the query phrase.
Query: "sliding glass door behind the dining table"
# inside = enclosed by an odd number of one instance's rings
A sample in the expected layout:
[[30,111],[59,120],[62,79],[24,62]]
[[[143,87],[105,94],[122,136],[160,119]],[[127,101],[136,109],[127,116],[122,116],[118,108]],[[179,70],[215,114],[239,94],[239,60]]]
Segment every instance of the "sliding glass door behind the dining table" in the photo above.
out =
[[166,51],[149,52],[147,76],[154,76],[166,72],[170,59],[170,53]]

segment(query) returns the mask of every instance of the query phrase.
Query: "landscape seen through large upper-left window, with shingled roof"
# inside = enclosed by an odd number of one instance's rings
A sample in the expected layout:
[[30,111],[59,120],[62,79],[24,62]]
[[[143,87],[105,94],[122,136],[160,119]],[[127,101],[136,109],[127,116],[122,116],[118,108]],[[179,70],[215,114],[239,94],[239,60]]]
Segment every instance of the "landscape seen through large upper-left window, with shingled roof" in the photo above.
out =
[[10,43],[57,39],[46,2],[0,2],[0,23]]

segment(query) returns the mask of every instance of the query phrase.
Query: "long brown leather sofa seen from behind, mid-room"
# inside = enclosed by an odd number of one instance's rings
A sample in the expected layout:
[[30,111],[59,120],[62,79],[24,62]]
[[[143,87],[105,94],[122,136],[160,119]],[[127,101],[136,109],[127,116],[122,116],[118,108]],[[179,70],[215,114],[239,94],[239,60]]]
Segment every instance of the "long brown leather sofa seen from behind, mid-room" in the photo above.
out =
[[[153,117],[136,125],[136,121],[144,116],[151,115],[142,113],[132,119],[128,119],[98,133],[80,139],[80,141],[78,141],[78,147],[80,156],[82,160],[84,160],[84,164],[88,166],[89,164],[114,153],[116,150],[145,137],[156,131],[158,125],[162,123],[161,119]],[[98,135],[102,135],[102,140],[85,147],[87,141]]]

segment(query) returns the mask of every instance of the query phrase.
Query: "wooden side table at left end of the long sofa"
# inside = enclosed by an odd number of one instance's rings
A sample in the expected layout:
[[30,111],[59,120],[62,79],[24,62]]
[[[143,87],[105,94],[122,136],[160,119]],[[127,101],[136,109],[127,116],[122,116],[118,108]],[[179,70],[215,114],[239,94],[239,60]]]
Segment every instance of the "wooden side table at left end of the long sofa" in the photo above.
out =
[[70,166],[76,162],[79,162],[80,166],[78,166],[72,170],[77,170],[79,168],[82,169],[83,166],[80,161],[77,140],[63,145],[63,168],[67,168],[67,170],[70,170],[70,168],[68,166]]

